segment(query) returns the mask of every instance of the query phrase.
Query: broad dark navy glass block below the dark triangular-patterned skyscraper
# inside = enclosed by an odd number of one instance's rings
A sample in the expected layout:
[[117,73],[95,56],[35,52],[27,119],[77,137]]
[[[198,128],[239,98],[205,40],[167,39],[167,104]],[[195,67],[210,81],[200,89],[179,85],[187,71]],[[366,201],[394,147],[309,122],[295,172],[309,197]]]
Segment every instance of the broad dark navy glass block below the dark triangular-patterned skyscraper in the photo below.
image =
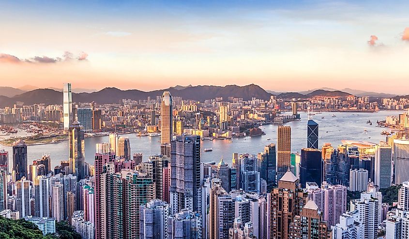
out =
[[321,185],[322,173],[321,151],[315,148],[301,149],[300,183],[305,188],[306,182],[315,182]]

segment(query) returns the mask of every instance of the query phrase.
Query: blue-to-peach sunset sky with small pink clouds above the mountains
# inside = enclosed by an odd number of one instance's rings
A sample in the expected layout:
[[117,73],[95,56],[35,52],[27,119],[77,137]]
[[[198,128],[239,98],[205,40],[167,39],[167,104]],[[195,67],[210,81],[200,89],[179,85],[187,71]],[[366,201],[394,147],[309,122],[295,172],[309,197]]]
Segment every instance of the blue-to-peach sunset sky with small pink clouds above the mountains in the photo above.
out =
[[409,94],[409,1],[0,1],[0,86]]

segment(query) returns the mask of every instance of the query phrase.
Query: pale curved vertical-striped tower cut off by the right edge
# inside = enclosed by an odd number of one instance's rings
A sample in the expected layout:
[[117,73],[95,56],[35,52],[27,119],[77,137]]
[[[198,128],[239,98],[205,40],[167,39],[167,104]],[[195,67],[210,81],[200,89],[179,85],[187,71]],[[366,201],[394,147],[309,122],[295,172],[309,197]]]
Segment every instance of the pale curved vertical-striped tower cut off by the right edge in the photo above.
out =
[[395,184],[409,181],[409,140],[394,140]]

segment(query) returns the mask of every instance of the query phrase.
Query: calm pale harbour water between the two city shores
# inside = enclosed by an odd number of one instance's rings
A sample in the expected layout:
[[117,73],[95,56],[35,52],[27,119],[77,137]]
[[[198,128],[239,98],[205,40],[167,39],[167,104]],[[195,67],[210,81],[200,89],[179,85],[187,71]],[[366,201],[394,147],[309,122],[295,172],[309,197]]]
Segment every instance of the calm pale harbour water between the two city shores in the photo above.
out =
[[[372,143],[379,143],[380,140],[385,140],[385,136],[380,132],[385,128],[375,127],[377,120],[384,120],[387,115],[398,115],[403,111],[381,111],[378,113],[347,113],[338,112],[335,113],[336,117],[331,117],[333,113],[324,112],[322,114],[314,115],[314,120],[319,125],[319,147],[323,143],[332,143],[333,145],[341,144],[341,140],[357,140],[368,141]],[[358,115],[359,114],[359,115]],[[300,152],[303,147],[306,147],[306,135],[307,135],[307,115],[305,112],[301,112],[301,121],[293,121],[287,125],[291,126],[291,151]],[[324,117],[324,119],[321,119]],[[373,125],[366,124],[366,121],[370,119]],[[364,132],[364,129],[367,132]],[[258,137],[247,137],[233,139],[233,143],[228,143],[227,140],[204,140],[201,141],[201,147],[212,148],[212,152],[203,152],[201,154],[201,160],[203,162],[216,161],[218,162],[221,157],[226,163],[231,164],[232,153],[251,153],[257,154],[263,151],[263,146],[269,143],[276,143],[277,139],[277,126],[267,125],[261,126],[261,129],[266,135]],[[136,137],[135,134],[123,135],[129,137],[131,143],[131,153],[142,152],[144,161],[147,160],[149,155],[160,153],[160,137]],[[369,139],[369,137],[371,137]],[[267,140],[270,138],[271,140]],[[85,139],[85,160],[86,162],[93,164],[95,154],[95,144],[108,142],[108,137],[93,137]],[[0,145],[0,148],[2,146]],[[12,164],[12,148],[4,147],[9,151],[9,165]],[[57,144],[45,144],[45,145],[33,145],[28,146],[28,163],[31,164],[32,160],[39,159],[43,154],[50,154],[51,166],[60,164],[60,160],[68,159],[68,141],[64,141]]]

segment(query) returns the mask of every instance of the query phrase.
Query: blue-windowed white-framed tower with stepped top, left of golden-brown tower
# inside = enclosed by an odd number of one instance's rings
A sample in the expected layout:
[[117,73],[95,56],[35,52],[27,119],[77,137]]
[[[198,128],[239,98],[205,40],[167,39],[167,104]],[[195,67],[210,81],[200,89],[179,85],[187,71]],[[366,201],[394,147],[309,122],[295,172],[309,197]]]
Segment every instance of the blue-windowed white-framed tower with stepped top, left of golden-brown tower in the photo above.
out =
[[245,192],[259,192],[260,173],[257,171],[257,157],[242,154],[240,160],[240,188]]

